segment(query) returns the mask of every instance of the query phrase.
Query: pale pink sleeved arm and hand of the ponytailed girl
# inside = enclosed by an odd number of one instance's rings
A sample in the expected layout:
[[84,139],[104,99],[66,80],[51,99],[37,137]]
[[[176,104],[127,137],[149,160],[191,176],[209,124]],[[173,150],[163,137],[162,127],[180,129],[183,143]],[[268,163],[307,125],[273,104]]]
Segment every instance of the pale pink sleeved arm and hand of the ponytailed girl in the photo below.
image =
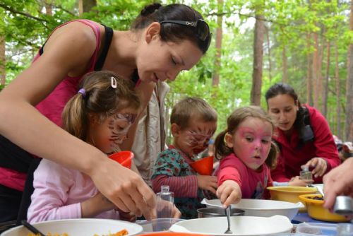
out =
[[[87,177],[86,177],[87,178]],[[82,202],[69,203],[70,191],[82,187],[87,182],[80,172],[68,170],[52,161],[42,160],[34,174],[32,202],[28,208],[30,223],[44,220],[60,220],[70,218],[92,218],[98,214],[114,209],[114,204],[98,192],[90,197],[90,189],[81,189],[77,199]],[[85,192],[84,192],[85,191]],[[72,198],[72,196],[71,196]]]

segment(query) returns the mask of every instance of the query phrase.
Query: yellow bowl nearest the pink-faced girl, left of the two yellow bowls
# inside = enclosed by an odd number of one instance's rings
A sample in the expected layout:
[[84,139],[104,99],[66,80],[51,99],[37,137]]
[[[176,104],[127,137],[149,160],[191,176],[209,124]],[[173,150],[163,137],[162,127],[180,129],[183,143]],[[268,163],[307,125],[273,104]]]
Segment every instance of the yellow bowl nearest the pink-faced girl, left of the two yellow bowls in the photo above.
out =
[[[301,199],[299,199],[300,195],[316,194],[316,191],[318,190],[314,187],[268,187],[267,189],[270,190],[271,199],[277,201],[289,201],[292,203],[301,201]],[[305,206],[304,201],[301,202]],[[306,208],[299,208],[299,211],[305,212]]]

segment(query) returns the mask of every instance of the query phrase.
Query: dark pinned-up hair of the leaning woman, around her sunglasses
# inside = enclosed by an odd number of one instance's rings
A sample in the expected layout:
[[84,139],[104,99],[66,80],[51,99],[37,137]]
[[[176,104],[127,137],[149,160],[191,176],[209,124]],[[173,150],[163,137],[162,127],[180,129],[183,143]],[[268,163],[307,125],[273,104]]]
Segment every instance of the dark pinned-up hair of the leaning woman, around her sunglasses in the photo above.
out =
[[[162,22],[163,20],[184,20],[195,22],[203,20],[203,17],[198,11],[184,4],[169,4],[167,6],[150,4],[145,6],[140,12],[140,15],[131,25],[131,30],[144,29],[153,22]],[[161,24],[160,37],[164,42],[190,40],[201,49],[203,54],[207,52],[211,40],[210,34],[205,40],[201,40],[196,34],[196,28],[174,23]]]

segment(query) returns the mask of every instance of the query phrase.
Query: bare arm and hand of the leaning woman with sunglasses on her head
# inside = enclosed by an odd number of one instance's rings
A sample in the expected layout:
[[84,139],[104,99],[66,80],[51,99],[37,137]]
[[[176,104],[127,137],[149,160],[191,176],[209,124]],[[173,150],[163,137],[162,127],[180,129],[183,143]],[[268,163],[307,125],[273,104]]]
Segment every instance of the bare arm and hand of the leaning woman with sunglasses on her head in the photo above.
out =
[[155,194],[136,173],[68,134],[34,105],[54,90],[66,74],[87,66],[95,49],[89,27],[72,23],[56,30],[44,54],[0,93],[0,134],[26,151],[89,175],[104,196],[122,211],[155,216]]

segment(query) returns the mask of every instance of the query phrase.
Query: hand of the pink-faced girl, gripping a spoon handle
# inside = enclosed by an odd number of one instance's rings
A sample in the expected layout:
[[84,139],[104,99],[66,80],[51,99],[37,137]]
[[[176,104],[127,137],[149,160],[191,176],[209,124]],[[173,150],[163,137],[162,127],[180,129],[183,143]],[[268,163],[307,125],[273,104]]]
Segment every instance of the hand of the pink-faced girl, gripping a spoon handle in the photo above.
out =
[[227,208],[230,204],[235,204],[240,201],[240,186],[233,180],[226,180],[220,187],[218,187],[216,196],[222,202],[223,207]]

